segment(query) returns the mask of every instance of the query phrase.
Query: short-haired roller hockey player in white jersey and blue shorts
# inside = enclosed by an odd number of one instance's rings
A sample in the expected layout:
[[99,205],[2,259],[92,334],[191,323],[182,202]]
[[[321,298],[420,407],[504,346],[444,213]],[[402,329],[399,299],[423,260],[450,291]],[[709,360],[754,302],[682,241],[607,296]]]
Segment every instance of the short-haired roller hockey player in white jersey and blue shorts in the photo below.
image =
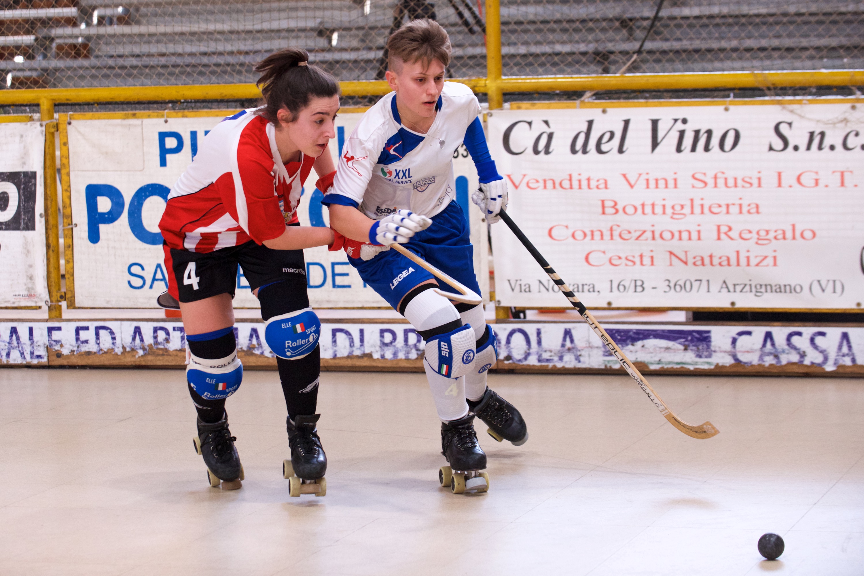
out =
[[423,365],[449,463],[440,472],[442,484],[457,493],[486,491],[486,453],[475,416],[495,440],[517,446],[528,440],[519,411],[486,386],[498,358],[494,332],[482,304],[454,305],[436,294],[435,278],[389,246],[404,244],[480,293],[467,215],[454,201],[454,149],[464,142],[473,158],[480,190],[472,199],[490,222],[506,206],[507,187],[486,147],[477,98],[465,85],[444,82],[447,32],[437,22],[415,20],[391,35],[387,48],[394,92],[366,111],[345,142],[333,187],[321,179],[328,187],[322,204],[337,232],[331,250],[344,248],[364,282],[426,341]]

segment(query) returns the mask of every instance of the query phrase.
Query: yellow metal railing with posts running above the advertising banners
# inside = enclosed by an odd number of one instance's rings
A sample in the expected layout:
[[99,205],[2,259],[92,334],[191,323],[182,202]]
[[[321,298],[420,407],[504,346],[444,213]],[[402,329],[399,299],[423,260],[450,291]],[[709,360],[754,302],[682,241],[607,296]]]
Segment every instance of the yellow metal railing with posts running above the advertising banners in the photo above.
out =
[[[499,0],[486,0],[486,78],[454,79],[474,92],[488,95],[490,110],[504,105],[505,92],[581,92],[688,90],[714,88],[774,88],[783,86],[864,85],[864,70],[792,72],[661,73],[623,75],[505,77],[502,75]],[[377,96],[390,92],[384,81],[341,82],[345,96]],[[245,100],[258,98],[254,84],[121,86],[117,88],[48,88],[0,91],[0,105],[39,104],[46,123],[45,139],[45,244],[48,271],[48,317],[60,318],[60,231],[57,218],[54,104],[76,102],[159,102],[177,100]]]

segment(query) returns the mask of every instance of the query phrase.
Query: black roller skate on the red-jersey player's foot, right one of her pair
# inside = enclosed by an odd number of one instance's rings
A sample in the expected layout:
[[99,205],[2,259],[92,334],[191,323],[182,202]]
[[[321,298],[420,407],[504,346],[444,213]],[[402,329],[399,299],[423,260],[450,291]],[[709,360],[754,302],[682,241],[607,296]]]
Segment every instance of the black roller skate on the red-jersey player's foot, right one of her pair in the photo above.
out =
[[299,497],[301,494],[324,496],[327,494],[327,454],[321,446],[321,438],[315,422],[320,414],[298,415],[295,421],[289,416],[288,445],[291,459],[282,465],[283,477],[289,481],[289,493]]

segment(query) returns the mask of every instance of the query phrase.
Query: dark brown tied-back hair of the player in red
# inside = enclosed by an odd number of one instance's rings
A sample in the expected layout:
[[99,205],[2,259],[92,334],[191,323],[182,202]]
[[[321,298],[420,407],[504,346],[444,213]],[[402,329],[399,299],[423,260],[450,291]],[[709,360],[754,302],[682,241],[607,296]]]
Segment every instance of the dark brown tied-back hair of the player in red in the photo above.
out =
[[285,48],[270,54],[255,66],[261,78],[255,83],[264,96],[264,108],[257,113],[278,125],[276,113],[286,108],[292,117],[314,97],[340,94],[339,82],[318,66],[309,65],[309,54],[300,48]]

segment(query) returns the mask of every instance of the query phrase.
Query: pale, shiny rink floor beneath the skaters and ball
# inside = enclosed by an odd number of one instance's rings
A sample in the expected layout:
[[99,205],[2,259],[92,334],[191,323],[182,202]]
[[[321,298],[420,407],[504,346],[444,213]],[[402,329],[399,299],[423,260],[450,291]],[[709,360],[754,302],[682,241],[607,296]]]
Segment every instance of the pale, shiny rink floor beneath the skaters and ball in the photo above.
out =
[[864,380],[652,378],[710,440],[627,377],[490,383],[530,440],[480,434],[487,494],[438,486],[422,375],[325,372],[327,496],[291,498],[275,371],[228,402],[246,480],[224,492],[181,370],[0,370],[0,574],[864,573]]

